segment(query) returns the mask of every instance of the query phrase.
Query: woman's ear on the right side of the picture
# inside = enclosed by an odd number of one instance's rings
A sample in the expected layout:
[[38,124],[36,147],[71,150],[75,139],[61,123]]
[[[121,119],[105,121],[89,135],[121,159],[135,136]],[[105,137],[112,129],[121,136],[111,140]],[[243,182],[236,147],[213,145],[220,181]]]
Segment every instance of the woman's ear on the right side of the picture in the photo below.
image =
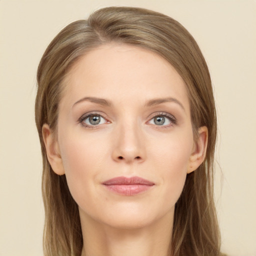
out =
[[206,126],[202,126],[198,129],[198,136],[196,141],[194,141],[193,149],[187,166],[187,173],[196,170],[203,162],[206,154],[207,141],[208,129]]

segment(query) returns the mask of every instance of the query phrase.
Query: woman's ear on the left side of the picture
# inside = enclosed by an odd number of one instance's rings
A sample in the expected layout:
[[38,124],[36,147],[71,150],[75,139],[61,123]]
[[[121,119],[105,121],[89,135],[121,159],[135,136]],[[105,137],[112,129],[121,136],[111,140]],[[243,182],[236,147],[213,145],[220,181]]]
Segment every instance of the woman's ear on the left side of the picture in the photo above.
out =
[[50,130],[49,125],[46,123],[42,125],[42,137],[51,168],[58,175],[64,174],[65,171],[60,156],[58,142],[53,132]]

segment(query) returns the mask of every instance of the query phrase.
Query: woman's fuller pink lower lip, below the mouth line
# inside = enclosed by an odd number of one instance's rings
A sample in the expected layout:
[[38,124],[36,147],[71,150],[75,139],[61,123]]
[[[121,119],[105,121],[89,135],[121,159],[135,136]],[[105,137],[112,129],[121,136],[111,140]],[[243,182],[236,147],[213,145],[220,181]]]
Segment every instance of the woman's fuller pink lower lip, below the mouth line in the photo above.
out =
[[114,184],[105,185],[109,190],[122,195],[135,195],[150,189],[153,185],[145,184]]

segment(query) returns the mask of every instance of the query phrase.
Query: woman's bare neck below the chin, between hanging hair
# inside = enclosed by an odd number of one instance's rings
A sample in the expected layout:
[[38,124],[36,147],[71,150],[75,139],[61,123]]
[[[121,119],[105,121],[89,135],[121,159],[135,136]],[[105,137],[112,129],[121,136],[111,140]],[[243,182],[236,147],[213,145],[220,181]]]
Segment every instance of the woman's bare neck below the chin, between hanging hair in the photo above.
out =
[[83,248],[81,256],[167,256],[173,214],[139,228],[116,228],[80,214]]

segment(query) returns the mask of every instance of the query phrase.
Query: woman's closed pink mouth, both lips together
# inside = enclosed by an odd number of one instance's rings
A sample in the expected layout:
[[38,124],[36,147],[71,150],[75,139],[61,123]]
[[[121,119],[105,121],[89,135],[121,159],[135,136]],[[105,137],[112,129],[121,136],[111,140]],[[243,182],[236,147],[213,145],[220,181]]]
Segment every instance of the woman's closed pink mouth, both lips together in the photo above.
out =
[[154,183],[141,177],[115,177],[102,182],[106,188],[122,195],[135,195],[151,188]]

